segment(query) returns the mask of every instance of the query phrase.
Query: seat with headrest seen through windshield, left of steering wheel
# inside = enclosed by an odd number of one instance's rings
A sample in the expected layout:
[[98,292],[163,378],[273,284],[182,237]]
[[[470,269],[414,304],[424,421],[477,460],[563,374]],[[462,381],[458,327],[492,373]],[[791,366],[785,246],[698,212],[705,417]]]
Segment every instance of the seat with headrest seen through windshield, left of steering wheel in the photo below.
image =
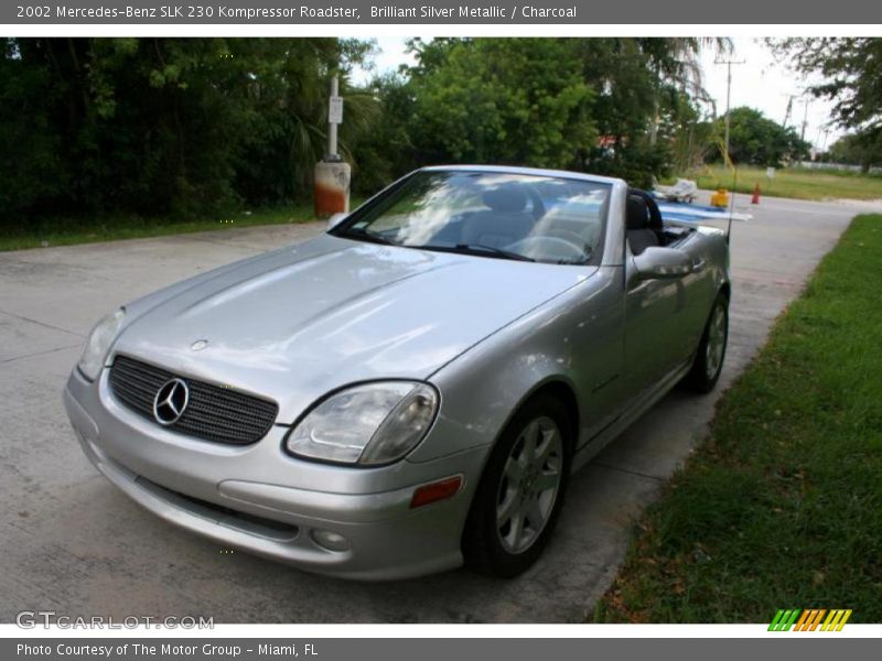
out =
[[505,248],[533,230],[536,219],[527,212],[529,198],[520,186],[508,184],[485,191],[482,201],[490,209],[465,218],[462,243]]

